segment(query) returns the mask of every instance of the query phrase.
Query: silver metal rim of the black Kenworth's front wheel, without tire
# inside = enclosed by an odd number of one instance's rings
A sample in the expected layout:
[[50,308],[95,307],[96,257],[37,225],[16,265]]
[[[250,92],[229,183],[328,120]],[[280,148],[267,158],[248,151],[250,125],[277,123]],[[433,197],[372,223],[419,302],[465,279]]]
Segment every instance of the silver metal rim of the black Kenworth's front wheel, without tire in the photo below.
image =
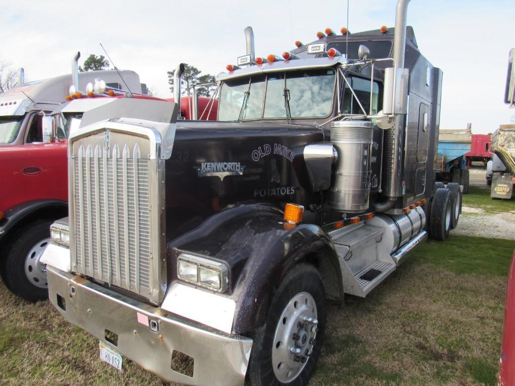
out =
[[273,373],[280,382],[291,382],[302,372],[313,352],[317,331],[315,300],[309,293],[299,292],[284,308],[273,337]]

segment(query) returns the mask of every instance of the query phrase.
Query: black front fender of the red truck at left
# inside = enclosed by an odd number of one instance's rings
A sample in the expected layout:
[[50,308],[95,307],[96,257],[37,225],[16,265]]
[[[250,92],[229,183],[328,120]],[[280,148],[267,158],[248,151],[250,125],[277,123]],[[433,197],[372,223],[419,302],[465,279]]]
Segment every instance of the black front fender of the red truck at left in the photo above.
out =
[[[0,221],[0,243],[2,239],[20,224],[24,219],[35,215],[39,211],[52,208],[66,209],[68,203],[61,200],[31,200],[15,205],[4,212],[4,218]],[[56,218],[62,217],[60,214]]]

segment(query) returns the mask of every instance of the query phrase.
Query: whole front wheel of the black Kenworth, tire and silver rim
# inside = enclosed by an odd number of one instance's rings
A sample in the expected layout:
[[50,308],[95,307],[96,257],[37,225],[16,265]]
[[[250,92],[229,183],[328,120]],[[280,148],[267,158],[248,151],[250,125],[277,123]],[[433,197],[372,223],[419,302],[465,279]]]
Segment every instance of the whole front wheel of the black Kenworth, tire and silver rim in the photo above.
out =
[[315,267],[295,266],[284,278],[254,332],[246,384],[306,386],[320,355],[325,293]]

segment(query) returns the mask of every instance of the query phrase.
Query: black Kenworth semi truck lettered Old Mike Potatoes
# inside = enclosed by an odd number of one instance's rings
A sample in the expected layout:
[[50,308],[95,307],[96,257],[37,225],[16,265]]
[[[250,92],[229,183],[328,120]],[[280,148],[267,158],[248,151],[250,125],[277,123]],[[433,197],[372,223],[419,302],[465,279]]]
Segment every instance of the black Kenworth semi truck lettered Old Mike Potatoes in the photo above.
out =
[[50,301],[100,359],[188,385],[306,385],[326,300],[367,296],[428,233],[447,238],[442,72],[407,3],[394,30],[328,28],[282,55],[255,56],[246,28],[218,121],[165,102],[125,118],[127,98],[84,114],[43,260]]

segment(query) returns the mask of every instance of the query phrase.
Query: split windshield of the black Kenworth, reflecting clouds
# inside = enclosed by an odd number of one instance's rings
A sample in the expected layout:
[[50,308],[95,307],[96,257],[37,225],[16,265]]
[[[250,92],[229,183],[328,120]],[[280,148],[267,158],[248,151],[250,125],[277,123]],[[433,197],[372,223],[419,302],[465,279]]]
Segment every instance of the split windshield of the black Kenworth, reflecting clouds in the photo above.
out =
[[332,111],[335,70],[307,69],[228,80],[222,84],[218,119],[315,118]]

